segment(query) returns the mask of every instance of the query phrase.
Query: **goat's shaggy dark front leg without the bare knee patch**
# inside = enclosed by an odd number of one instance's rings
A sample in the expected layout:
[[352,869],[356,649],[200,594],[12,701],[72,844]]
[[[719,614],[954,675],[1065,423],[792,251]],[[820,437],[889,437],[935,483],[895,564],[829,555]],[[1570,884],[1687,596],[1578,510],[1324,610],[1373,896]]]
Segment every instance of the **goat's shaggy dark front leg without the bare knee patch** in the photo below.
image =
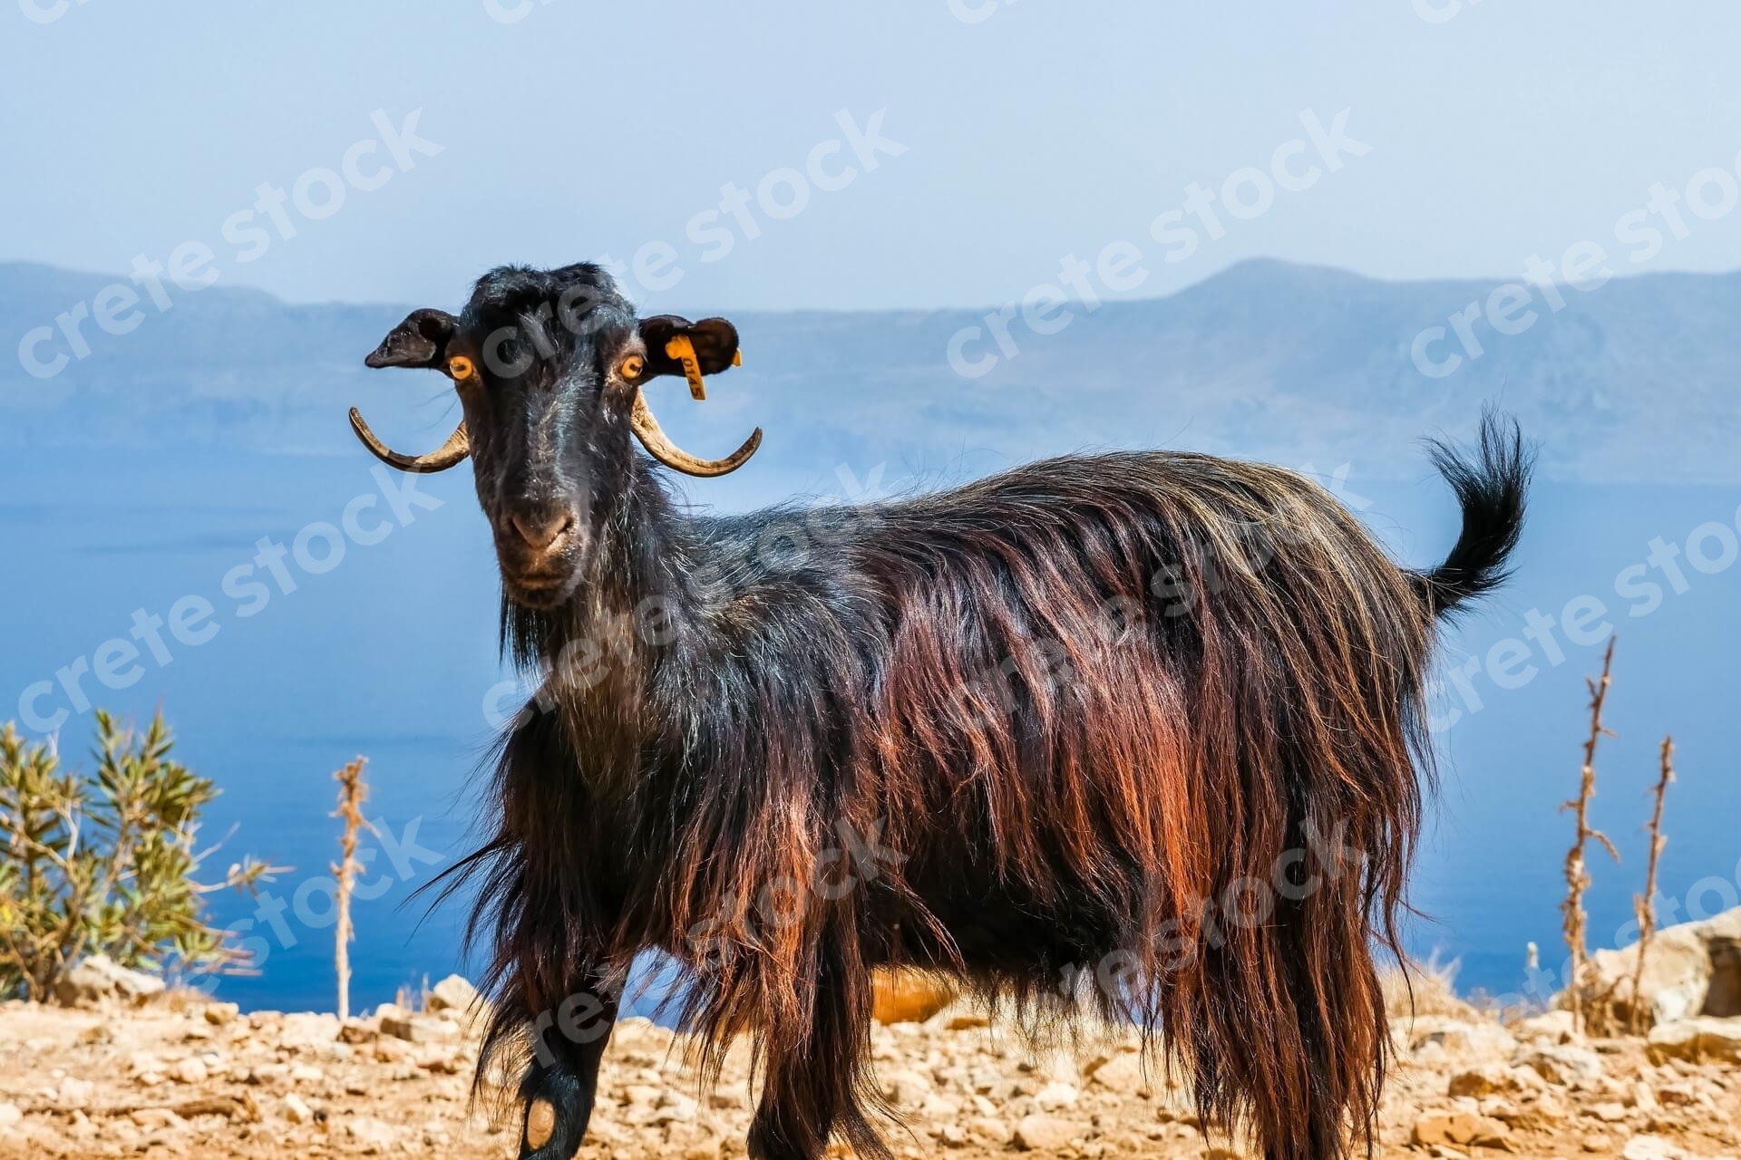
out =
[[858,1103],[869,1056],[870,976],[829,939],[818,960],[810,1035],[797,1043],[782,1043],[778,1028],[770,1035],[763,1096],[750,1122],[752,1160],[818,1160],[834,1134],[860,1157],[888,1157]]

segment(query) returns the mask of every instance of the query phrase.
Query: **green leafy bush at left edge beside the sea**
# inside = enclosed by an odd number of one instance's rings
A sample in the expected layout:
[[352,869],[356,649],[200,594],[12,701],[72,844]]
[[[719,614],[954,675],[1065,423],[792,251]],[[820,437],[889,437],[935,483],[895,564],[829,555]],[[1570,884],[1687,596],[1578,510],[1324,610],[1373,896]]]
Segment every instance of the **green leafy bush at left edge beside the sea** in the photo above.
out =
[[202,883],[200,810],[218,788],[169,760],[162,713],[141,734],[96,713],[96,772],[0,725],[0,997],[45,1000],[85,955],[158,974],[245,969],[205,896],[280,868],[245,859]]

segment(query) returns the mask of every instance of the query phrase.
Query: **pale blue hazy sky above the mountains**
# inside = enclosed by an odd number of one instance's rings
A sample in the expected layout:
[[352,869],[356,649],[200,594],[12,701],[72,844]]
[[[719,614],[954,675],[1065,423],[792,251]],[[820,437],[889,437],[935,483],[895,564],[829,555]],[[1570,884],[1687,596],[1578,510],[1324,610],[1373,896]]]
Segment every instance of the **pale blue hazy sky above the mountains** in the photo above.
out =
[[[125,271],[204,243],[223,283],[298,301],[449,304],[498,263],[642,254],[639,294],[669,310],[977,306],[1114,242],[1147,277],[1104,296],[1252,256],[1518,275],[1581,240],[1619,250],[1652,184],[1732,179],[1741,151],[1727,0],[0,0],[0,259]],[[440,151],[399,170],[376,110],[395,132],[421,110]],[[886,110],[874,170],[843,110],[860,129]],[[1342,110],[1370,148],[1332,172],[1302,113],[1328,134]],[[1278,188],[1278,150],[1309,188]],[[258,186],[292,195],[346,155],[390,177],[319,219],[291,197],[294,237],[245,233],[272,226]],[[844,188],[806,176],[846,167]],[[747,205],[721,210],[728,184]],[[1168,210],[1189,252],[1153,233]],[[1685,224],[1626,271],[1741,266],[1741,214]]]

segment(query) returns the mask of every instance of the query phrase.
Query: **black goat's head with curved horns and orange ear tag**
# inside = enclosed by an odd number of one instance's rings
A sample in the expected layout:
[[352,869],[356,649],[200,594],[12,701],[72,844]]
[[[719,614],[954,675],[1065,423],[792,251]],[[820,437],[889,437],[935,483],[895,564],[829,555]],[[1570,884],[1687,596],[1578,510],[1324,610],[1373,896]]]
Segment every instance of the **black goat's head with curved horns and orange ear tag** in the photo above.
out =
[[388,450],[355,409],[350,423],[402,471],[444,471],[470,456],[503,584],[524,607],[559,605],[580,584],[587,550],[632,483],[630,433],[689,475],[735,471],[761,443],[757,430],[724,459],[696,459],[665,437],[642,386],[682,376],[703,398],[702,376],[738,362],[736,327],[635,318],[611,277],[590,264],[491,271],[461,315],[418,310],[366,362],[453,379],[465,419],[427,456]]

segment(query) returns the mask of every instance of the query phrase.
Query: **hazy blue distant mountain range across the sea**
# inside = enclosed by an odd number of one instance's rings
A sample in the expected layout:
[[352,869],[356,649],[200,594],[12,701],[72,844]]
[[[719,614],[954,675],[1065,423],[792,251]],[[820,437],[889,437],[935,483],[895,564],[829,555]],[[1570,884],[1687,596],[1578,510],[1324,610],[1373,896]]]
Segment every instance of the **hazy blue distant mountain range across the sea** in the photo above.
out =
[[[350,452],[345,409],[355,403],[378,431],[423,450],[456,414],[437,376],[362,367],[407,306],[292,306],[221,285],[171,287],[169,311],[146,299],[125,336],[85,322],[87,358],[54,377],[28,374],[17,355],[24,336],[77,303],[94,310],[111,282],[0,264],[0,447]],[[1482,355],[1468,358],[1449,317],[1489,303],[1497,285],[1393,283],[1250,261],[1170,297],[1093,311],[1071,301],[1069,323],[1050,336],[1017,317],[1015,357],[999,351],[989,310],[738,313],[745,367],[703,407],[681,390],[663,390],[656,403],[702,452],[763,424],[764,459],[799,477],[881,461],[907,475],[951,475],[1114,445],[1417,475],[1421,437],[1468,431],[1480,407],[1497,402],[1543,442],[1549,478],[1741,480],[1741,273],[1562,289],[1560,311],[1532,290],[1534,323],[1508,336],[1480,318],[1471,334]],[[453,308],[461,292],[435,287],[418,304]],[[710,313],[705,303],[660,308]],[[999,360],[965,377],[947,350],[975,325],[982,332],[963,358]],[[1426,348],[1435,363],[1464,357],[1443,377],[1422,374],[1410,353],[1426,327],[1447,327]],[[35,355],[68,351],[56,332]]]

